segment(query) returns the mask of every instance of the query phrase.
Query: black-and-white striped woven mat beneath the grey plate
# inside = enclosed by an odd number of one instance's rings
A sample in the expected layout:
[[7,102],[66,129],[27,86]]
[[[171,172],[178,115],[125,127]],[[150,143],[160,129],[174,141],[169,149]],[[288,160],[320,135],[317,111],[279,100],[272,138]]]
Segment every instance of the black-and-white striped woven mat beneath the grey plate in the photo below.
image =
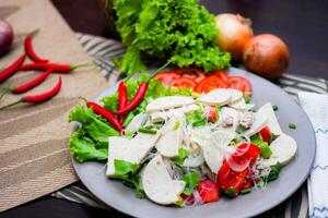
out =
[[[90,56],[102,65],[101,72],[106,78],[108,86],[113,85],[117,80],[120,78],[119,73],[114,68],[114,64],[109,61],[112,58],[121,57],[124,55],[125,48],[120,43],[83,34],[77,34],[77,38],[87,53],[90,53]],[[327,82],[325,80],[312,78],[307,76],[284,75],[279,81],[278,85],[280,85],[293,97],[295,97],[300,90],[314,93],[327,93],[328,90]],[[113,208],[101,203],[92,193],[86,190],[81,182],[55,192],[52,193],[52,196],[93,207],[113,210]],[[284,203],[258,217],[304,218],[307,217],[307,193],[306,185],[304,184]],[[121,217],[126,217],[126,215],[121,214]]]

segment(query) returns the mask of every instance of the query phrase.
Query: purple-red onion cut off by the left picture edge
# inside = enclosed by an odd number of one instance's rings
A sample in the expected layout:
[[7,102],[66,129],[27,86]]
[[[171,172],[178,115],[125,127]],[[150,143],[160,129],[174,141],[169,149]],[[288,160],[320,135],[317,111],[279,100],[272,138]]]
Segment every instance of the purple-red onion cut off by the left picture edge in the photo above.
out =
[[0,56],[9,50],[12,40],[13,31],[11,25],[4,19],[0,19]]

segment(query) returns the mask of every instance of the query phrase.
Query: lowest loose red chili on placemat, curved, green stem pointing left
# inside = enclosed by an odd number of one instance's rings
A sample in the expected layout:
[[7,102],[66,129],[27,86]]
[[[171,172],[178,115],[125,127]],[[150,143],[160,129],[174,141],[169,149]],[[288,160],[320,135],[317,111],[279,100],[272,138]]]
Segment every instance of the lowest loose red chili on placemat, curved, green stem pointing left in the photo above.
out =
[[24,96],[15,102],[12,102],[12,104],[1,107],[0,110],[11,107],[11,106],[14,106],[14,105],[17,105],[17,104],[21,104],[21,102],[38,104],[38,102],[49,100],[50,98],[55,97],[59,93],[60,88],[61,88],[61,76],[59,76],[56,86],[54,86],[50,90],[42,93],[39,95]]

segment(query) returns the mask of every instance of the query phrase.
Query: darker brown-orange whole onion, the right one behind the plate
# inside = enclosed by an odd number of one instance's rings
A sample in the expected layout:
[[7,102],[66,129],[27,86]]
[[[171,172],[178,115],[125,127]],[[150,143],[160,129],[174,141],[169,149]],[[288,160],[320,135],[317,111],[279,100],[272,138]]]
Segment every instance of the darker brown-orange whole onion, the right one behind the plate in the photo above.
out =
[[288,69],[290,51],[279,37],[262,34],[246,44],[243,62],[247,70],[268,80],[276,80]]

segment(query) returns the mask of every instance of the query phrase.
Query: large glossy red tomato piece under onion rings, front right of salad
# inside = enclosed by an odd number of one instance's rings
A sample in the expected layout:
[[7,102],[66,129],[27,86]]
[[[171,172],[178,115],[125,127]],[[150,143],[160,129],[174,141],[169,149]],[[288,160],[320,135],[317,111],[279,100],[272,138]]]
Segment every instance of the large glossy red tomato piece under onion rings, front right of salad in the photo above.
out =
[[[248,147],[246,152],[243,152],[242,155],[239,152],[234,153],[231,158],[238,165],[245,164],[245,161],[249,161],[249,165],[254,165],[256,159],[260,155],[260,148],[256,145],[250,144],[248,146],[247,143],[238,145],[238,149],[245,149]],[[241,190],[243,190],[243,185],[245,184],[246,177],[249,174],[248,168],[244,171],[236,172],[231,169],[230,165],[224,161],[221,169],[218,173],[218,183],[223,192],[230,196],[237,196]]]

